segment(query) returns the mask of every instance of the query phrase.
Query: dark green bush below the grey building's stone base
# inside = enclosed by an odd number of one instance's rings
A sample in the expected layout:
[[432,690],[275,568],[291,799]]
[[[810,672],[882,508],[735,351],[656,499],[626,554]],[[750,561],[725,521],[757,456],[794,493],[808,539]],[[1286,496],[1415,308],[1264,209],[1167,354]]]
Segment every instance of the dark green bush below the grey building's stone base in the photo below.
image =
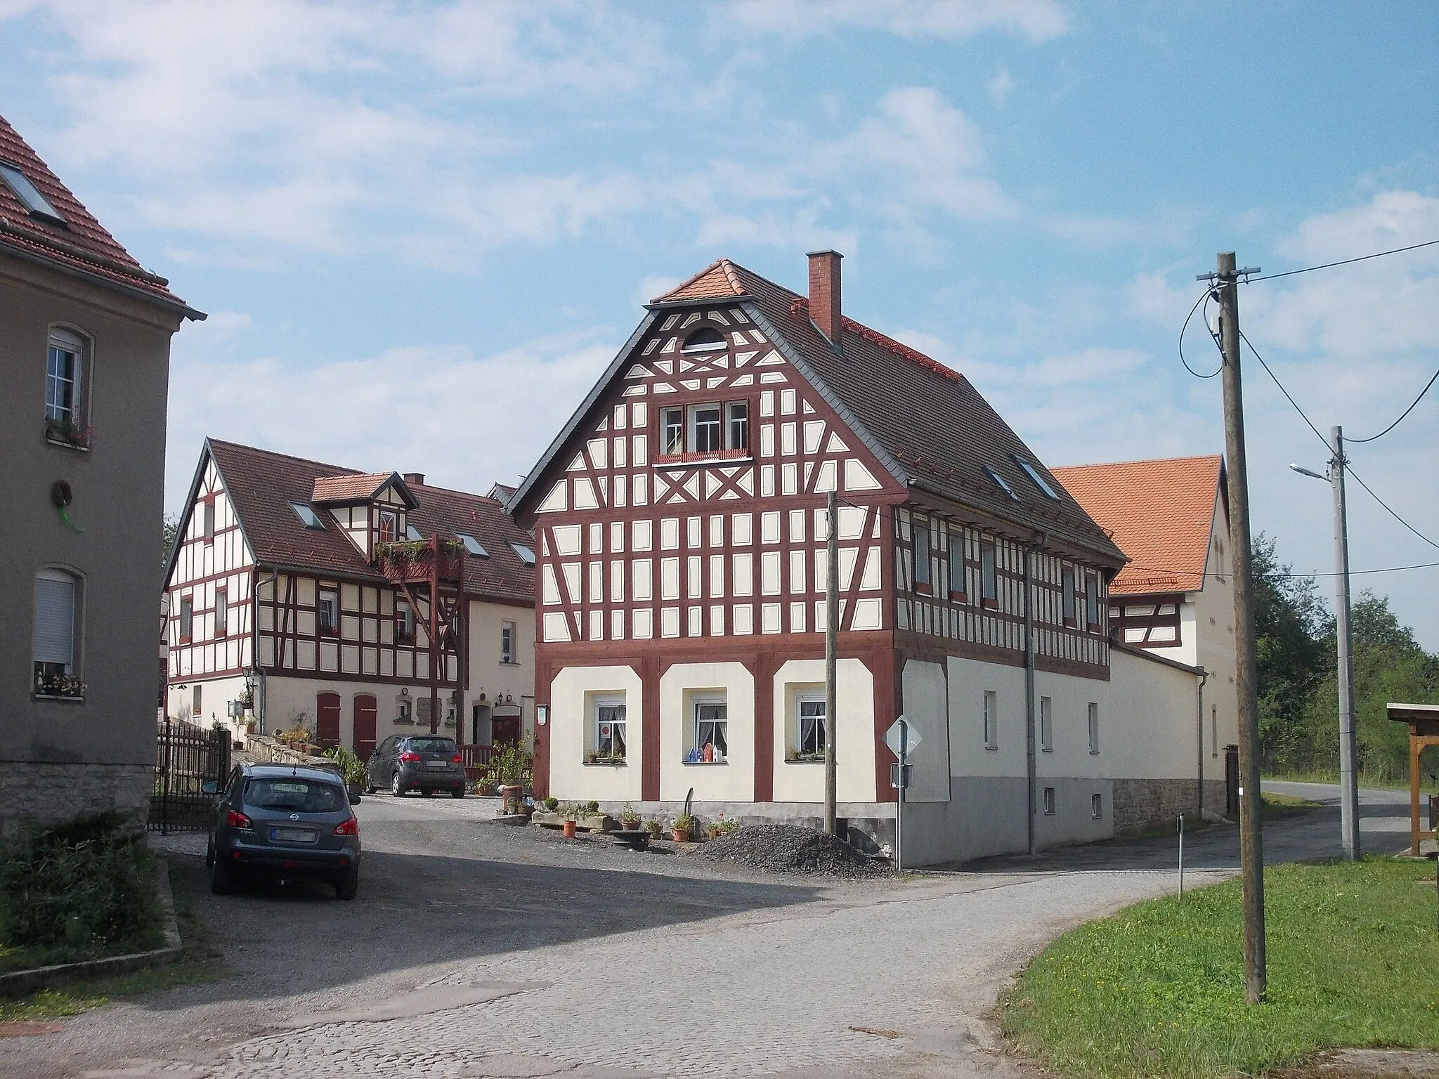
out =
[[115,811],[30,833],[0,860],[0,941],[81,957],[119,944],[158,947],[155,860]]

